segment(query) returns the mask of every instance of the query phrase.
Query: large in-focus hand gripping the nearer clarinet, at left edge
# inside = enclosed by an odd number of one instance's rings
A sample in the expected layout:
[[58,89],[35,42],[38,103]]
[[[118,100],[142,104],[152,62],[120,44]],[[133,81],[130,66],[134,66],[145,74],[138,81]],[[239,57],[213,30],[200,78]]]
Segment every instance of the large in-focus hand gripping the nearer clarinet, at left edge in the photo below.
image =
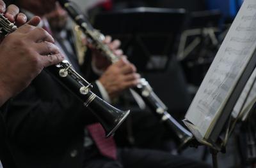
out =
[[40,18],[34,17],[0,44],[0,106],[27,87],[44,67],[64,58],[52,36],[33,26],[39,22]]

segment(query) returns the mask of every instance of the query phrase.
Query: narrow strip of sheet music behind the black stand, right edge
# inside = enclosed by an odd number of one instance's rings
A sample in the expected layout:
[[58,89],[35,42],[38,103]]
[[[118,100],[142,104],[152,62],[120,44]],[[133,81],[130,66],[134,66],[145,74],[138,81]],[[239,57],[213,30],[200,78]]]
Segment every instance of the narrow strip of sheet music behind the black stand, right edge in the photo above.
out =
[[253,101],[253,98],[256,97],[256,85],[255,85],[255,78],[256,78],[256,69],[253,71],[252,75],[250,76],[249,80],[247,81],[242,94],[240,95],[239,99],[236,102],[236,106],[232,111],[232,116],[237,118],[239,114],[242,115],[244,110],[250,105],[250,102]]

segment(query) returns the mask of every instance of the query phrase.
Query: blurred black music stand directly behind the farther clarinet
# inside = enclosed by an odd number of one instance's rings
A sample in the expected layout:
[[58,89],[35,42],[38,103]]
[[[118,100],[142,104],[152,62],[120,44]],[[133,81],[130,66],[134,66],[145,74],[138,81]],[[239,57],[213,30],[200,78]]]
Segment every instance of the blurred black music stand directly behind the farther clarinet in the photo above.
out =
[[184,18],[183,9],[131,8],[100,13],[94,26],[120,39],[129,60],[147,72],[166,69]]

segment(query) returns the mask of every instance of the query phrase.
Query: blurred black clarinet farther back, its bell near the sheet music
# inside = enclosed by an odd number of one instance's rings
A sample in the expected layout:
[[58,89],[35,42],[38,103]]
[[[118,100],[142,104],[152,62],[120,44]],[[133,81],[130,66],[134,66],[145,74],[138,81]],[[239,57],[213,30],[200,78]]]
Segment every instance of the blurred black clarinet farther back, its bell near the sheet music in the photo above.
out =
[[[82,13],[79,13],[77,7],[74,3],[68,0],[59,0],[59,3],[65,10],[67,10],[70,17],[76,22],[77,25],[82,29],[84,34],[87,36],[88,41],[92,43],[100,52],[105,55],[109,61],[115,63],[119,60],[115,53],[111,51],[108,45],[104,44],[103,41],[105,36],[99,31],[93,28],[93,26],[88,22]],[[161,122],[175,132],[177,137],[179,137],[181,146],[188,143],[193,137],[191,132],[186,130],[180,123],[178,123],[168,112],[164,103],[157,97],[154,93],[152,87],[145,78],[140,79],[140,83],[133,88],[146,102],[148,107],[156,113]]]

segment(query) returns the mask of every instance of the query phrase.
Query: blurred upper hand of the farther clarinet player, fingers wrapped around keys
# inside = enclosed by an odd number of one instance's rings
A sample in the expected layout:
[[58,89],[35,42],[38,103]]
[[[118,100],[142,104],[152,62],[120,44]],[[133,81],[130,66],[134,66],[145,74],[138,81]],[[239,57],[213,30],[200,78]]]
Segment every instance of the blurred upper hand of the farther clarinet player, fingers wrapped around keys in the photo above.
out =
[[[121,45],[121,42],[118,39],[112,41],[111,36],[106,36],[104,43],[106,43],[109,48],[111,48],[111,50],[115,53],[117,57],[121,57],[123,55],[123,51],[118,49]],[[99,50],[96,50],[91,45],[89,45],[89,47],[92,50],[93,66],[97,67],[97,69],[99,69],[100,71],[106,71],[111,62],[109,62],[109,60],[106,59],[106,57],[102,55]]]

